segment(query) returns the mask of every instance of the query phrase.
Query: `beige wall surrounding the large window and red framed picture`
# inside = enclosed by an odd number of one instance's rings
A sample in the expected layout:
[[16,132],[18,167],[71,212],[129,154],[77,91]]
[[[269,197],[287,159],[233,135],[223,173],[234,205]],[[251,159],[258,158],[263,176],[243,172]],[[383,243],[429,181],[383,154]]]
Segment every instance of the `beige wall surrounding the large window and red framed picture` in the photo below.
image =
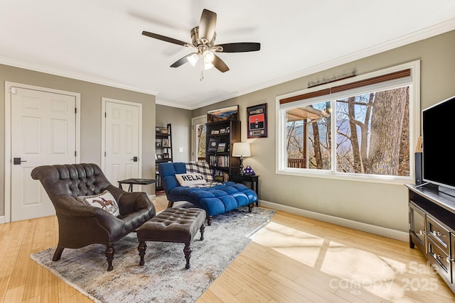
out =
[[[366,57],[330,70],[301,77],[241,97],[193,111],[194,116],[229,105],[240,105],[242,141],[249,141],[251,165],[259,177],[259,196],[267,202],[315,211],[319,214],[407,231],[407,189],[403,185],[353,182],[275,174],[276,110],[275,98],[307,87],[308,82],[341,75],[356,69],[358,75],[421,60],[421,109],[455,95],[455,31],[438,35],[385,53]],[[268,138],[247,139],[247,106],[267,103]],[[444,165],[444,163],[441,163]]]

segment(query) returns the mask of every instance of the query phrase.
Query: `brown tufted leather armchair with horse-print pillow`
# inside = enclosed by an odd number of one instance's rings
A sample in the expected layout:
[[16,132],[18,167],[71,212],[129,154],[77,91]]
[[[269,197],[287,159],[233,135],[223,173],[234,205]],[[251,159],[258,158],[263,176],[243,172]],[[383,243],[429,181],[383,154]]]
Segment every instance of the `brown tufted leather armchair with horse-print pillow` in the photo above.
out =
[[[44,165],[31,172],[40,180],[58,218],[58,246],[52,260],[60,260],[63,249],[105,244],[107,270],[112,270],[113,243],[136,230],[156,214],[145,192],[125,192],[114,187],[96,164]],[[119,216],[77,201],[78,196],[100,194],[105,189],[119,204]]]

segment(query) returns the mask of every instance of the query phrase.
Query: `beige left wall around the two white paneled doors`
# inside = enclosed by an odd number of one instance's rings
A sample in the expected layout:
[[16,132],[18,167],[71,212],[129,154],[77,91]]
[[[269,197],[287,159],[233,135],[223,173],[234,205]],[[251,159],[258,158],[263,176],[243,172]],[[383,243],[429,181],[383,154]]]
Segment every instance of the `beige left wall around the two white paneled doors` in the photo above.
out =
[[[4,215],[5,162],[5,81],[80,93],[80,161],[101,163],[101,98],[107,97],[142,104],[142,177],[154,178],[155,96],[93,84],[65,77],[0,65],[0,215]],[[151,186],[142,187],[149,194]]]

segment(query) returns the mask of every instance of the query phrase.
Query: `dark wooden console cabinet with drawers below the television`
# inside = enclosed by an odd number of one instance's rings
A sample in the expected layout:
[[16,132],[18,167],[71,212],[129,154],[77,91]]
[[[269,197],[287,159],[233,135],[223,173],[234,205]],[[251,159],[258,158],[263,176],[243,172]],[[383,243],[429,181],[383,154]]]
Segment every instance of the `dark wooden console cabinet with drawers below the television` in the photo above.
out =
[[407,184],[410,197],[410,247],[417,246],[455,292],[455,197],[434,185]]

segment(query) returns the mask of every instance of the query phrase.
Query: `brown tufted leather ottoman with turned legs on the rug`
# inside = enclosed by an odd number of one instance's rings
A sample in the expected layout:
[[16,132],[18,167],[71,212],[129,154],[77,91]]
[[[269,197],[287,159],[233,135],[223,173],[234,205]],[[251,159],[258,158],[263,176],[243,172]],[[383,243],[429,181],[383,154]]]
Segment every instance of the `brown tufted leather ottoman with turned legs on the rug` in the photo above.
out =
[[185,268],[190,268],[191,241],[198,230],[200,230],[200,240],[204,239],[205,210],[203,209],[184,209],[170,208],[154,216],[137,229],[137,239],[139,240],[139,265],[144,265],[144,255],[147,248],[146,241],[176,242],[185,243],[183,253],[185,253]]

